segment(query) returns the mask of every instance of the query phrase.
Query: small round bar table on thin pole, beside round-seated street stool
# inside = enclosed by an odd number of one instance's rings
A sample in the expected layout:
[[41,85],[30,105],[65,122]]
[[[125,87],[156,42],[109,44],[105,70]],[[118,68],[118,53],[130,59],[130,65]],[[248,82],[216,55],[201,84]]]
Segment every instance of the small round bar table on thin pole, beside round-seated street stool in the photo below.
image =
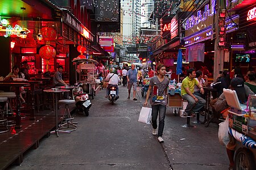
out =
[[55,99],[55,116],[56,116],[56,128],[54,131],[51,131],[51,133],[56,133],[57,137],[59,137],[59,132],[63,132],[63,133],[71,133],[70,131],[65,131],[65,130],[59,130],[58,128],[58,114],[57,114],[57,94],[58,93],[62,93],[62,92],[68,92],[69,90],[64,90],[64,89],[58,89],[58,88],[52,88],[52,89],[47,89],[44,90],[44,92],[47,93],[52,93],[53,95],[53,99]]

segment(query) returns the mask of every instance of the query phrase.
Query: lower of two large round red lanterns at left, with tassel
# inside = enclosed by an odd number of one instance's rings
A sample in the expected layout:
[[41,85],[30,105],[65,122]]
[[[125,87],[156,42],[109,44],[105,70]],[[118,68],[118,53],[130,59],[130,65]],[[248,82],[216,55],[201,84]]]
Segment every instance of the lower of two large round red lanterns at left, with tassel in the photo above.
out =
[[48,71],[49,60],[56,56],[56,50],[50,45],[45,45],[40,48],[39,54],[41,58],[46,59],[46,71]]

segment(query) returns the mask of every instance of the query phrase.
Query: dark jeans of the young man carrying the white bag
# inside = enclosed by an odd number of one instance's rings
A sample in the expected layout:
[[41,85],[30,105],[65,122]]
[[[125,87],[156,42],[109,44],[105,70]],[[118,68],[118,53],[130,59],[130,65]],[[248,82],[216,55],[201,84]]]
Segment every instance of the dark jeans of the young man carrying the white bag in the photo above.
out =
[[[152,105],[152,126],[154,129],[158,128],[158,136],[162,137],[164,128],[164,118],[166,117],[166,105],[158,104]],[[156,123],[159,112],[159,127]]]

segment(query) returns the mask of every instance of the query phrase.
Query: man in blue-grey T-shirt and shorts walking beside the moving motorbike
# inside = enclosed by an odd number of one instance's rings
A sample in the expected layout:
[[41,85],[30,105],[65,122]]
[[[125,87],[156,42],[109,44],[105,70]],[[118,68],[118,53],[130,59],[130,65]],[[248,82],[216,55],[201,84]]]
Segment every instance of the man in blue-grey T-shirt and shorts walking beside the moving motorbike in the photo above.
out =
[[131,65],[131,69],[127,71],[127,82],[128,82],[128,93],[129,96],[127,97],[127,99],[130,99],[130,94],[131,94],[131,86],[133,86],[133,100],[137,100],[136,99],[136,88],[137,88],[137,69],[135,69],[135,65],[132,64]]

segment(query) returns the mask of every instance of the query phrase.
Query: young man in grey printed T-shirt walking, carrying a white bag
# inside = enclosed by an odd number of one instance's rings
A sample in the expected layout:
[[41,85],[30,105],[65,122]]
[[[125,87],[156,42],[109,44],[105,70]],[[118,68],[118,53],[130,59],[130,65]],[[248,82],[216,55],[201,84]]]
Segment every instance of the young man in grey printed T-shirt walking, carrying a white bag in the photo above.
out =
[[147,100],[150,97],[150,104],[152,107],[152,134],[156,135],[157,118],[159,113],[159,128],[158,128],[158,141],[163,142],[163,129],[164,129],[164,118],[166,117],[166,104],[167,104],[167,88],[169,80],[164,77],[166,74],[166,67],[162,64],[157,66],[158,75],[150,79],[150,84],[147,91],[146,101],[143,104],[144,107],[147,107]]

